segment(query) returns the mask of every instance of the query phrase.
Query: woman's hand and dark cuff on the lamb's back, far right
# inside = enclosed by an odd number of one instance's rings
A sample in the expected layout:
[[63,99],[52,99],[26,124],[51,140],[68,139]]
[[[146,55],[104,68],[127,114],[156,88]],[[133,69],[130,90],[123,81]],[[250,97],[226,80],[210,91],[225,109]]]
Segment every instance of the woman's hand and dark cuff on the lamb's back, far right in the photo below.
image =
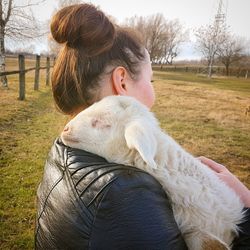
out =
[[204,156],[199,157],[202,163],[215,171],[216,175],[231,187],[241,198],[244,203],[245,219],[239,226],[239,235],[233,242],[233,250],[250,249],[250,190],[225,166],[210,160]]

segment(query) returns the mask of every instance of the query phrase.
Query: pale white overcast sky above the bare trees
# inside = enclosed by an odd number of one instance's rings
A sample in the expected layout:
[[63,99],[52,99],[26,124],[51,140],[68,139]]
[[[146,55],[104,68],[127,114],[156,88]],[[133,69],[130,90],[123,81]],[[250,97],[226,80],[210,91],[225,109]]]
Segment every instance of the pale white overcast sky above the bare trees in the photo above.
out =
[[[213,22],[219,0],[91,0],[106,14],[112,15],[118,22],[126,18],[148,16],[162,13],[166,19],[179,19],[183,26],[190,29],[190,42],[183,44],[179,59],[196,59],[199,57],[193,48],[194,29]],[[232,33],[250,39],[250,0],[223,0],[226,22]],[[33,8],[35,16],[49,20],[57,8],[57,0],[47,0]]]

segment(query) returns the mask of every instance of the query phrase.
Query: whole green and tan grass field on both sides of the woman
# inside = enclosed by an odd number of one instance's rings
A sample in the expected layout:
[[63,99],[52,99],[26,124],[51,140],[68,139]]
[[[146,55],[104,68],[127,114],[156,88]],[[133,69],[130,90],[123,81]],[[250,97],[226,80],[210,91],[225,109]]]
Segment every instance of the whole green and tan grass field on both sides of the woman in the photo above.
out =
[[[17,100],[17,76],[8,79],[9,89],[0,88],[0,249],[33,249],[36,189],[67,117],[55,110],[44,73],[36,92],[34,72],[27,74],[23,102]],[[250,187],[250,80],[160,71],[154,80],[153,111],[162,127],[194,155],[227,165]]]

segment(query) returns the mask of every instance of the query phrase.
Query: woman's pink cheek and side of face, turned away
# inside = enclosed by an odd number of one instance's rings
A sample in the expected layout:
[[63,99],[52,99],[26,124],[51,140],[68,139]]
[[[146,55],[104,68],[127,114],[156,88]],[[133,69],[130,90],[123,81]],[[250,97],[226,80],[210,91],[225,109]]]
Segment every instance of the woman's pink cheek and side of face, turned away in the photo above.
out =
[[153,71],[149,54],[146,51],[145,61],[141,64],[140,75],[137,80],[131,80],[128,95],[136,98],[138,101],[151,108],[155,101],[154,88],[152,86]]

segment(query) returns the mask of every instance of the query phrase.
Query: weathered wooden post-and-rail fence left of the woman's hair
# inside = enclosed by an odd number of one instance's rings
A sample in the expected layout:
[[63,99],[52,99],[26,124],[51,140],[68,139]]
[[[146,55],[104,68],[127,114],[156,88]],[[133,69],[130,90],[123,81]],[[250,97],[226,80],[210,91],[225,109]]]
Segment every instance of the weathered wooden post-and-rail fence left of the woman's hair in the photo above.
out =
[[50,68],[51,66],[51,58],[46,57],[46,66],[41,67],[41,56],[36,55],[36,64],[33,68],[25,68],[25,57],[24,55],[18,55],[18,65],[19,70],[13,70],[13,71],[6,71],[6,72],[0,72],[1,76],[7,76],[7,75],[15,75],[19,74],[19,100],[25,99],[25,74],[29,71],[35,70],[35,80],[34,80],[34,90],[39,90],[39,76],[40,76],[40,70],[46,69],[46,86],[49,85],[50,82]]

